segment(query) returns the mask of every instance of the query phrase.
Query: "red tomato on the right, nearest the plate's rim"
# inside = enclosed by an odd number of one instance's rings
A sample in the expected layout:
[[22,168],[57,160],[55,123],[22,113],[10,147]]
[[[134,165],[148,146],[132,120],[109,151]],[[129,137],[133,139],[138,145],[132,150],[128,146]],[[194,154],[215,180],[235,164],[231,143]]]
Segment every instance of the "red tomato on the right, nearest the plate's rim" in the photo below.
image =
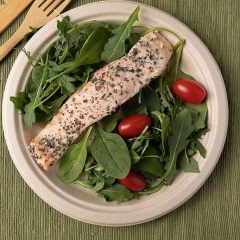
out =
[[188,78],[178,78],[173,83],[174,93],[183,101],[198,104],[206,97],[205,88]]

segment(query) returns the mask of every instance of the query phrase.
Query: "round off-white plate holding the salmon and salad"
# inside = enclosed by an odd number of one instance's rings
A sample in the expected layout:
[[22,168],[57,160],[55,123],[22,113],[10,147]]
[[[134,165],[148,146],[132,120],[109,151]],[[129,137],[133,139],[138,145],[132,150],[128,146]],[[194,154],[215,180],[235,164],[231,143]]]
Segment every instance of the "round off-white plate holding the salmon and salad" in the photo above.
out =
[[[35,126],[32,132],[29,131],[24,126],[19,111],[14,109],[9,100],[10,96],[16,96],[19,91],[24,90],[31,72],[24,53],[20,53],[16,59],[4,92],[5,138],[11,157],[26,183],[40,198],[58,211],[97,225],[139,224],[158,218],[183,204],[202,186],[214,169],[227,133],[228,105],[219,68],[207,47],[179,20],[159,9],[123,1],[95,2],[72,9],[66,15],[71,17],[73,23],[93,19],[120,23],[128,18],[137,5],[141,6],[139,14],[141,23],[170,28],[186,39],[182,68],[207,89],[208,126],[211,131],[203,139],[203,144],[207,147],[206,159],[200,156],[196,158],[201,170],[199,174],[181,172],[171,186],[164,187],[155,194],[120,204],[107,203],[88,189],[61,183],[56,176],[57,165],[46,172],[29,156],[27,145],[39,131],[39,126]],[[176,41],[169,34],[166,35],[172,42]],[[25,48],[34,56],[38,56],[57,38],[56,20],[53,20],[37,32]]]

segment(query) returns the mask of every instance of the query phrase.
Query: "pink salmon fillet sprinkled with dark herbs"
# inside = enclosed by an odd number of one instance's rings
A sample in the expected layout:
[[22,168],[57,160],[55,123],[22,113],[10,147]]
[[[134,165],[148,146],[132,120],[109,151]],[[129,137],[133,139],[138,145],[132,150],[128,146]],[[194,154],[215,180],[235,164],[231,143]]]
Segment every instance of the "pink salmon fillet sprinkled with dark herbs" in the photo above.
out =
[[163,35],[150,32],[126,56],[96,71],[31,141],[28,150],[33,159],[48,170],[87,127],[162,74],[172,53],[173,47]]

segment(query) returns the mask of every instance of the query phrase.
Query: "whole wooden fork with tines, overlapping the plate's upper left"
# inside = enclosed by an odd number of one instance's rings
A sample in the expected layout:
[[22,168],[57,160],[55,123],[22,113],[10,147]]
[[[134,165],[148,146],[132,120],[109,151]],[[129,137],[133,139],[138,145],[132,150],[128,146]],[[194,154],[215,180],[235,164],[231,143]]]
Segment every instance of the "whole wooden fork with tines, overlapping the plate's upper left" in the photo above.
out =
[[[29,33],[30,26],[40,28],[61,13],[71,0],[35,0],[18,30],[0,47],[0,62]],[[56,10],[56,11],[54,11]]]

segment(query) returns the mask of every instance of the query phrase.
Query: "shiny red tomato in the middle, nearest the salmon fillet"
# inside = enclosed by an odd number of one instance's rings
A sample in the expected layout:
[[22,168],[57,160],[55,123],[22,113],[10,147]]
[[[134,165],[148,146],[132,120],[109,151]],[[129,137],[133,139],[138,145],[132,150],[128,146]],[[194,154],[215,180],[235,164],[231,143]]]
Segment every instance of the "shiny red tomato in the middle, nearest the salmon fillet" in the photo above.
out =
[[134,114],[119,123],[118,132],[122,137],[134,137],[140,135],[144,128],[150,125],[150,117],[144,114]]

